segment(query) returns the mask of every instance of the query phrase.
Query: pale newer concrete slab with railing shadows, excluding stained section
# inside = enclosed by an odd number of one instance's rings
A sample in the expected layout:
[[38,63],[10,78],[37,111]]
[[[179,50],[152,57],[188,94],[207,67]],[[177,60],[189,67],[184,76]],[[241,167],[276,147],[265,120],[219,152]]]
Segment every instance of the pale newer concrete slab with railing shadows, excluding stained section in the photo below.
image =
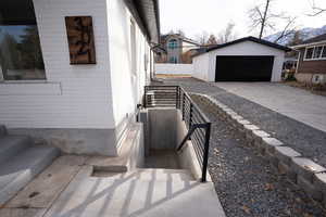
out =
[[[84,167],[43,217],[225,217],[212,182],[185,169],[135,169],[90,176]],[[104,174],[103,174],[104,175]]]

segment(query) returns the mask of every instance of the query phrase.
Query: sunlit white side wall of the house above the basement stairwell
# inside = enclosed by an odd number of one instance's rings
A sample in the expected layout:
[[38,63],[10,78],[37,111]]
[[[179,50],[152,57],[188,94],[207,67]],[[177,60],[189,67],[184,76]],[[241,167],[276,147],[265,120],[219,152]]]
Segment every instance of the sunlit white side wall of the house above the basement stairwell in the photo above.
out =
[[[122,0],[106,0],[109,23],[110,68],[112,75],[112,98],[115,124],[127,114],[134,113],[141,102],[150,64],[145,71],[145,53],[150,47],[136,24],[136,72],[131,72],[130,20],[131,15]],[[150,56],[148,56],[150,59]],[[137,75],[137,77],[135,76]]]

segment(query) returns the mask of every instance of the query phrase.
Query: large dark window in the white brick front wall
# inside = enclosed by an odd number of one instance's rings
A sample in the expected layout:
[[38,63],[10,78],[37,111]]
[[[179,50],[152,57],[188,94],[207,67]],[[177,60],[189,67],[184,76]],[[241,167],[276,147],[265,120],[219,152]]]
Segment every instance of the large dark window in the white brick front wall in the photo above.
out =
[[0,79],[46,79],[33,0],[0,1]]

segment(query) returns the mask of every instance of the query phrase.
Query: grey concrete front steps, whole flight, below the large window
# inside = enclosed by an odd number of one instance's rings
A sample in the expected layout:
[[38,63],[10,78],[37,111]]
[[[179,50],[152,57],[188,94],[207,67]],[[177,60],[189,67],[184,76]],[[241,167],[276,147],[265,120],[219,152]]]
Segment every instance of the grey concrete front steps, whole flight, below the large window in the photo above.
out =
[[0,126],[0,207],[59,156],[57,148],[34,145],[26,136],[9,136]]

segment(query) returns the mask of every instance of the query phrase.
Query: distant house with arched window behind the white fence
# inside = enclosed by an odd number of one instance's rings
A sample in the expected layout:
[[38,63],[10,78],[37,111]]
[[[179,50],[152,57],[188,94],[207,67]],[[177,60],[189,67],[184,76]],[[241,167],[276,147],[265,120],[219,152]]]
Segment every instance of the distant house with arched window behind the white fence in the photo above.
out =
[[161,48],[165,52],[156,53],[155,63],[192,63],[191,50],[200,44],[180,34],[161,36]]

